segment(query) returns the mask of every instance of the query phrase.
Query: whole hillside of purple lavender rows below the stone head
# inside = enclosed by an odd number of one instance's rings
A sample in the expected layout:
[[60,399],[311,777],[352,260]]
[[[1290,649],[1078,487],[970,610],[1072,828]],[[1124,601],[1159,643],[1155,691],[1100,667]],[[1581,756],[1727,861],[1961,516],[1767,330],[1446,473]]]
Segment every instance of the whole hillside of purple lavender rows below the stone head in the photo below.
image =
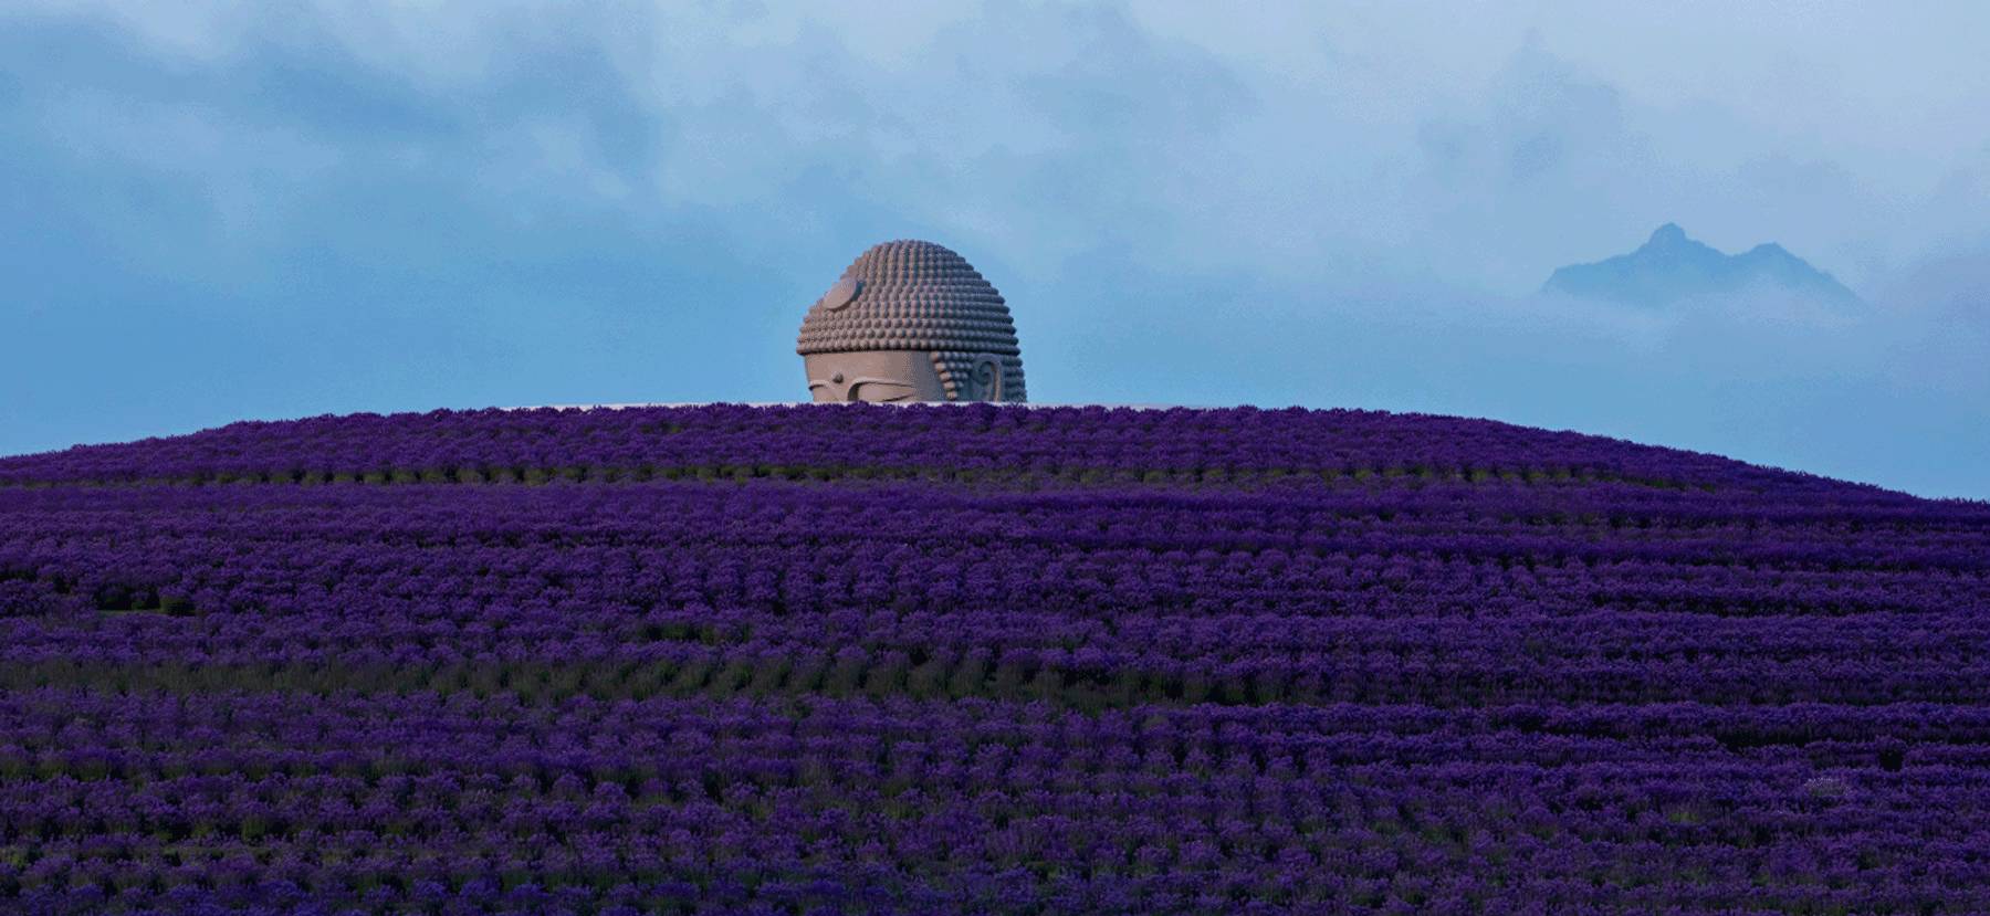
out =
[[0,910],[1990,912],[1990,505],[1363,411],[0,459]]

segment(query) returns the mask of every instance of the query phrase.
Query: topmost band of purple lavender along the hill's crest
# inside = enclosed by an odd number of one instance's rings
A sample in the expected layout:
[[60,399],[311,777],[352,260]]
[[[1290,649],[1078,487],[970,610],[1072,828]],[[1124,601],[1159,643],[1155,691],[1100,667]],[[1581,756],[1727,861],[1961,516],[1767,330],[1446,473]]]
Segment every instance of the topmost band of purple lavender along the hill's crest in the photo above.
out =
[[816,405],[356,413],[0,459],[34,481],[545,481],[649,477],[1628,479],[1843,489],[1676,449],[1485,419],[1305,409]]

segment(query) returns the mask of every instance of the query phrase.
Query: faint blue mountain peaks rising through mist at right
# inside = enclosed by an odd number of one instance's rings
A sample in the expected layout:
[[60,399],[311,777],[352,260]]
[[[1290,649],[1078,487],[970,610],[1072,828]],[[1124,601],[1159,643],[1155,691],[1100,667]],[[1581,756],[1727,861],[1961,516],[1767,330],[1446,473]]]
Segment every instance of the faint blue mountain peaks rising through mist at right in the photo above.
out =
[[1688,238],[1676,223],[1658,227],[1652,238],[1630,254],[1558,268],[1540,290],[1648,308],[1743,292],[1831,306],[1861,302],[1859,294],[1837,278],[1781,244],[1763,242],[1741,254],[1721,254],[1709,244]]

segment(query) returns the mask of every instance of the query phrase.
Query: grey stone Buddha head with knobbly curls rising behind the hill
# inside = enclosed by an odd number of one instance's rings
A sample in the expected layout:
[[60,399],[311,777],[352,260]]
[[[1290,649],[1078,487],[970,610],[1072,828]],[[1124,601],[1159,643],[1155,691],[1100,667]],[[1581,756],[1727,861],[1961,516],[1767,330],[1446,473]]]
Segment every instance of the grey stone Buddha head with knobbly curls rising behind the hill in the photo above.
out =
[[874,244],[844,270],[794,346],[828,401],[1023,401],[1023,352],[1001,292],[919,240]]

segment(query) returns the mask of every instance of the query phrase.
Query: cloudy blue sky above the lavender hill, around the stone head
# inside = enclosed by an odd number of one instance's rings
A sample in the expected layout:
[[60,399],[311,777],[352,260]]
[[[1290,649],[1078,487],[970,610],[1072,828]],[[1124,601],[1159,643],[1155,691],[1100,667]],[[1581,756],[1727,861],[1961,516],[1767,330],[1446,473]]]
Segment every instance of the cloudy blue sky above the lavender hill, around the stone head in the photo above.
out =
[[[1037,401],[1465,413],[1990,497],[1990,6],[0,10],[0,453],[806,397],[868,244]],[[1680,223],[1853,314],[1534,296]]]

